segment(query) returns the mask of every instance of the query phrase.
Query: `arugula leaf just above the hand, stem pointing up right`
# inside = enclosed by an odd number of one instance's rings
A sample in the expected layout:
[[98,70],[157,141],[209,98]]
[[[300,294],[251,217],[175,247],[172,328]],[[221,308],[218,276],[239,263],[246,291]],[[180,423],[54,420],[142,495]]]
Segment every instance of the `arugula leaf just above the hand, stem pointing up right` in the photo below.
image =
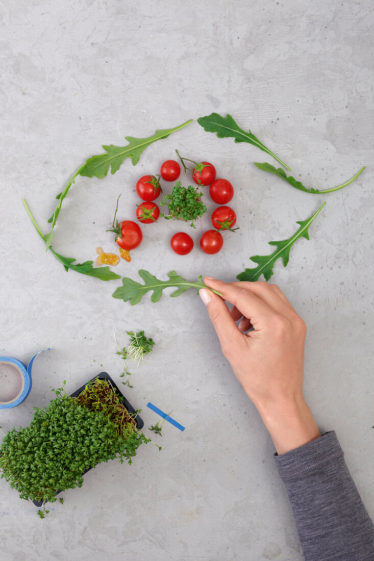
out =
[[258,266],[253,269],[245,269],[243,273],[236,275],[236,278],[239,280],[258,280],[259,277],[263,274],[265,280],[269,280],[273,274],[273,266],[277,259],[280,257],[283,260],[283,265],[286,266],[288,264],[290,258],[290,250],[296,240],[299,238],[306,238],[309,240],[308,228],[313,222],[314,218],[316,218],[317,214],[323,209],[325,206],[326,201],[320,206],[320,208],[307,220],[297,222],[300,224],[300,228],[297,232],[294,233],[288,240],[281,240],[279,242],[269,242],[269,245],[276,246],[277,249],[271,255],[254,255],[250,257],[254,263],[257,263]]

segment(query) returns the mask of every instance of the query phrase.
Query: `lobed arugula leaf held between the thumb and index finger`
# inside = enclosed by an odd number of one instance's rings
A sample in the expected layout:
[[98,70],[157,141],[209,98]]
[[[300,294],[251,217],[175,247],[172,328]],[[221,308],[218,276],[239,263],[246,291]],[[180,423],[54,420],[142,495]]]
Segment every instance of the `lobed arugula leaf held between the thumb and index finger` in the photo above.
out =
[[[150,290],[153,291],[152,302],[157,302],[159,298],[161,298],[164,288],[177,288],[175,292],[171,293],[171,297],[180,296],[189,288],[197,288],[198,291],[200,288],[208,288],[202,282],[202,275],[200,275],[197,282],[188,282],[184,278],[177,275],[175,271],[171,271],[170,273],[167,273],[167,275],[169,277],[169,280],[159,280],[148,271],[140,269],[139,276],[142,277],[145,283],[141,284],[139,282],[136,282],[136,280],[124,277],[122,278],[122,283],[124,284],[124,286],[117,288],[116,292],[113,293],[113,298],[120,298],[120,300],[123,300],[124,302],[130,300],[131,306],[134,306],[135,304],[138,304],[142,297]],[[209,290],[212,289],[209,288]],[[217,292],[215,290],[212,291],[222,296],[220,292]]]

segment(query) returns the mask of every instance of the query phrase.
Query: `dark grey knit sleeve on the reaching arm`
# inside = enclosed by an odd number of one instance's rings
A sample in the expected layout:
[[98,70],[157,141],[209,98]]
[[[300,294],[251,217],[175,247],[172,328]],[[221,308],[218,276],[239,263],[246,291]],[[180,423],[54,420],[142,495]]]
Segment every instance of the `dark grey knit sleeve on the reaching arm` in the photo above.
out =
[[306,561],[373,561],[374,526],[334,431],[278,456]]

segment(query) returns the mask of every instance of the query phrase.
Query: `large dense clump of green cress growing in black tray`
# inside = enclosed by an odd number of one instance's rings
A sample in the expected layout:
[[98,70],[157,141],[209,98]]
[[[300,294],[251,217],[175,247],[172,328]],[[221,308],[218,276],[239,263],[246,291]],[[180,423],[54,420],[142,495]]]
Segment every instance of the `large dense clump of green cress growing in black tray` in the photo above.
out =
[[[82,404],[79,398],[67,396],[63,388],[52,390],[56,398],[48,407],[34,407],[28,427],[14,427],[3,438],[1,477],[19,491],[21,499],[43,501],[43,510],[38,512],[41,518],[48,512],[45,502],[56,501],[57,491],[81,487],[85,470],[116,457],[121,463],[124,459],[131,463],[139,445],[150,440],[136,429],[128,414],[124,415],[124,407],[118,407],[119,399],[92,410],[84,406],[90,388],[100,396],[102,381],[86,387]],[[108,398],[109,392],[106,394]],[[122,415],[121,422],[115,418],[115,408]]]

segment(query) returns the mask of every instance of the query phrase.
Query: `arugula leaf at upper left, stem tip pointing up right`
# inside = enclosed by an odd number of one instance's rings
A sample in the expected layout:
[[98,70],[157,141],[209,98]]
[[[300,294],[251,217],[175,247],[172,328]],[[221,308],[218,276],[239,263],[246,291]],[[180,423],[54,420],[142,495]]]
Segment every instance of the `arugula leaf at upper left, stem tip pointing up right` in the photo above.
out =
[[83,171],[80,172],[81,176],[86,177],[99,177],[102,179],[111,167],[111,173],[116,173],[120,169],[121,163],[125,158],[131,158],[133,165],[139,162],[140,154],[152,142],[156,140],[166,139],[172,132],[178,131],[180,128],[185,127],[192,122],[193,119],[186,121],[183,125],[175,128],[166,128],[165,130],[156,131],[156,134],[148,136],[145,139],[137,139],[133,136],[125,136],[125,140],[129,142],[127,146],[103,146],[106,150],[105,154],[99,154],[86,160]]

